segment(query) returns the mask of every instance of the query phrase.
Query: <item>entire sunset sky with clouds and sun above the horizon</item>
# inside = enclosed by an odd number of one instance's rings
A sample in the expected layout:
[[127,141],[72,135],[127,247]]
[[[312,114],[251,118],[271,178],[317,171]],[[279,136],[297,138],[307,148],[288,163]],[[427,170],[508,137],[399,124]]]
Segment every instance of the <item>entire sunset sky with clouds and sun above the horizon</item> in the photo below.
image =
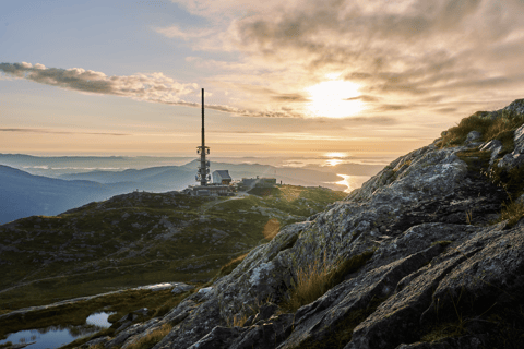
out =
[[524,0],[16,0],[0,153],[401,155],[524,98]]

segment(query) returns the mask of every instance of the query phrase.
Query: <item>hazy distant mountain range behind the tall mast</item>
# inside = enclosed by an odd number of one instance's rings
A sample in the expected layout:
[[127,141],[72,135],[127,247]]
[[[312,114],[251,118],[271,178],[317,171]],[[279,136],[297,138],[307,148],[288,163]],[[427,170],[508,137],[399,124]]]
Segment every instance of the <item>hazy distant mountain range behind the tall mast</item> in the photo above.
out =
[[[19,159],[27,160],[26,156],[19,156]],[[183,166],[96,170],[48,178],[0,165],[0,224],[33,215],[53,216],[93,201],[136,190],[157,193],[182,190],[195,184],[196,167],[198,160],[193,160]],[[235,180],[260,176],[276,178],[278,183],[282,181],[285,184],[343,189],[334,184],[340,180],[336,174],[309,169],[212,163],[211,170],[216,169],[229,170]]]

